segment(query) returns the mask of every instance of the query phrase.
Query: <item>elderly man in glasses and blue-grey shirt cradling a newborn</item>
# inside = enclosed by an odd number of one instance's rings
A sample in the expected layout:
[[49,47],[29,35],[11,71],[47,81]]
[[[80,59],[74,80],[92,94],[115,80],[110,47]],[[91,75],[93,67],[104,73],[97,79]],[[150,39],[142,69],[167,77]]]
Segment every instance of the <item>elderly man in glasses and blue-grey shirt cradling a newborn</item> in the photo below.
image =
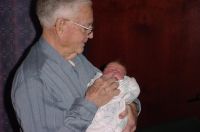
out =
[[[83,132],[98,107],[120,92],[112,76],[102,76],[87,88],[99,71],[82,55],[93,38],[92,2],[38,0],[36,11],[42,36],[13,81],[11,96],[19,124],[24,132]],[[135,130],[134,104],[119,116],[126,115],[124,131]]]

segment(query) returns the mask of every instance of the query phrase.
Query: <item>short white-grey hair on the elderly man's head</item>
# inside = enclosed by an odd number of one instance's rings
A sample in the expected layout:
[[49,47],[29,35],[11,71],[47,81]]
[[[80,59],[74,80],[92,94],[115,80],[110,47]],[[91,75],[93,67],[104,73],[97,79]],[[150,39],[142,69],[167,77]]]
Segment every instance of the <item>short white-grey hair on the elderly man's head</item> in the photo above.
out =
[[79,6],[83,4],[92,5],[91,0],[38,0],[36,13],[40,24],[44,27],[51,27],[57,18],[75,17]]

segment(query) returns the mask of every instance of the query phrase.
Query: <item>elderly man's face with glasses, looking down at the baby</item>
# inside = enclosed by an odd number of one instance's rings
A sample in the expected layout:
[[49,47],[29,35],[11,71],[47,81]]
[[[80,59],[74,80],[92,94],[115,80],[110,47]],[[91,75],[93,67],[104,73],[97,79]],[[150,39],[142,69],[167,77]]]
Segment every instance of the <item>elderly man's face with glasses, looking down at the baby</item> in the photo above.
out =
[[62,37],[63,46],[70,53],[80,54],[88,39],[93,38],[93,32],[88,30],[92,29],[93,24],[92,7],[89,4],[81,5],[77,17],[67,23],[68,26],[64,29],[66,33]]

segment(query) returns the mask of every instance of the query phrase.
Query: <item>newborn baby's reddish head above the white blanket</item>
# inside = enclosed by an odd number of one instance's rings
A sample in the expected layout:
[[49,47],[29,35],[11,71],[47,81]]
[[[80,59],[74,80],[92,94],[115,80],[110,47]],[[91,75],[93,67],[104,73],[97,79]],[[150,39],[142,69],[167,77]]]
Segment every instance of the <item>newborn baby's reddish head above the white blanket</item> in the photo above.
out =
[[111,62],[105,67],[103,74],[113,74],[117,80],[122,80],[126,75],[126,68],[119,62]]

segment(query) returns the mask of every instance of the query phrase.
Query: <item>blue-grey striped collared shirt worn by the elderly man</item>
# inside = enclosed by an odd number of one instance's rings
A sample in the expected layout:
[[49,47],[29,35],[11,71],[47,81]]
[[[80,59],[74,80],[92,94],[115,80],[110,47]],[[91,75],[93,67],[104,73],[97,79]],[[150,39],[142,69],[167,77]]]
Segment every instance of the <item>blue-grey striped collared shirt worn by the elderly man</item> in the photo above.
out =
[[82,132],[97,107],[85,100],[98,71],[83,55],[65,61],[43,38],[31,48],[12,86],[12,102],[23,132]]

